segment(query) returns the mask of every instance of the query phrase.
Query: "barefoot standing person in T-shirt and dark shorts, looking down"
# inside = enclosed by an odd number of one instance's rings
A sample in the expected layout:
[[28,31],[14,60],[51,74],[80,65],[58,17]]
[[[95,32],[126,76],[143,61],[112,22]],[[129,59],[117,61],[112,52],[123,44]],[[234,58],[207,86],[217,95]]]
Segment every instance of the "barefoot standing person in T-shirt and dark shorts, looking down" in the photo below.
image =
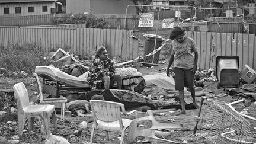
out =
[[175,73],[175,89],[179,91],[182,109],[178,114],[186,114],[184,87],[190,89],[193,104],[196,108],[199,108],[195,100],[194,89],[194,74],[197,70],[198,60],[197,48],[194,40],[185,36],[185,30],[181,27],[172,28],[170,39],[173,40],[171,44],[172,50],[166,73],[167,76],[170,76],[169,68],[171,67],[172,62],[174,62],[173,72]]

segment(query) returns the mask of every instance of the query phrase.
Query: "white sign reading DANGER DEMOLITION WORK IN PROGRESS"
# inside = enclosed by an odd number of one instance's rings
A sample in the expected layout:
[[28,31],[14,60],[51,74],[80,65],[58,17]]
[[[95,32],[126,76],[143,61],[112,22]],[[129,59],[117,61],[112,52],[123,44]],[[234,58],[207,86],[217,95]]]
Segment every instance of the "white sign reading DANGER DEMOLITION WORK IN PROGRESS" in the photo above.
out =
[[140,13],[140,20],[139,20],[139,26],[138,27],[153,27],[153,15],[154,13]]

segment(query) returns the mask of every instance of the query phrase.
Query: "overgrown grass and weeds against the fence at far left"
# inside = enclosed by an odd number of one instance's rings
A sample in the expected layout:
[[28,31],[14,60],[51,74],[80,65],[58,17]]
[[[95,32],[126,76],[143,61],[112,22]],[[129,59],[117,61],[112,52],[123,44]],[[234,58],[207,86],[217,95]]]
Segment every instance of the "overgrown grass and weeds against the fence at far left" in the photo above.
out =
[[0,63],[0,67],[7,69],[9,76],[14,71],[31,74],[36,66],[50,65],[49,59],[44,59],[43,49],[35,43],[0,46]]

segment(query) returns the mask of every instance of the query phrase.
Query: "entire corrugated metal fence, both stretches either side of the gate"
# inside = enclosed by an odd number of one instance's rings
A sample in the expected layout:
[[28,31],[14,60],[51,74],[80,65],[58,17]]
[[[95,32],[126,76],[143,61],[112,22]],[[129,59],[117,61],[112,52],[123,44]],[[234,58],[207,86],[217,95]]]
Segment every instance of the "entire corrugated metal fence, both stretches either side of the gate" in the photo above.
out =
[[[131,35],[130,30],[0,27],[0,44],[7,46],[14,43],[37,43],[44,47],[45,52],[69,46],[70,52],[80,55],[92,55],[103,44],[111,56],[131,60],[138,56],[139,48],[139,40],[130,37]],[[193,39],[199,50],[198,64],[202,69],[215,67],[216,56],[239,56],[240,70],[245,64],[256,69],[255,34],[194,32]]]

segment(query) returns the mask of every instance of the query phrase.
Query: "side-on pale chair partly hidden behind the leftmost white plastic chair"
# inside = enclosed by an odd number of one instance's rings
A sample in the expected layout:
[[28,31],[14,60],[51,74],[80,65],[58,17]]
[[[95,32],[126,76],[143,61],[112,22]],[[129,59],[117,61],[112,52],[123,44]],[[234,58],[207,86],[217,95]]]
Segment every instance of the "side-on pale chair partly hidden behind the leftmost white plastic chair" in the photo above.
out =
[[68,101],[65,97],[60,98],[43,98],[43,90],[41,88],[41,84],[39,81],[39,76],[37,73],[33,73],[34,78],[36,78],[37,82],[37,92],[39,92],[39,95],[37,97],[40,97],[40,104],[60,104],[60,118],[62,122],[64,123],[65,119],[65,103]]

